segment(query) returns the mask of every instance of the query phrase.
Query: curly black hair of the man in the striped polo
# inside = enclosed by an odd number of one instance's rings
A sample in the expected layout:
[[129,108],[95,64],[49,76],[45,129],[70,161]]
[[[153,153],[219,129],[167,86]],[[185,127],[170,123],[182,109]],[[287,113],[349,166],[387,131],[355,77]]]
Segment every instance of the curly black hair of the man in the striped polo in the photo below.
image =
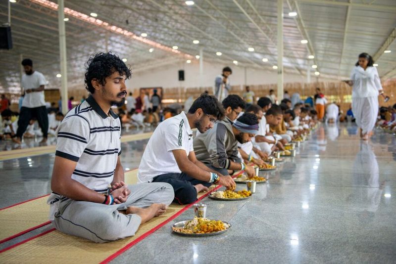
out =
[[95,92],[92,86],[92,80],[97,79],[99,84],[105,85],[105,79],[110,77],[113,73],[119,72],[120,75],[125,75],[126,79],[131,78],[131,69],[118,57],[111,52],[100,52],[91,56],[85,64],[85,88],[91,92]]

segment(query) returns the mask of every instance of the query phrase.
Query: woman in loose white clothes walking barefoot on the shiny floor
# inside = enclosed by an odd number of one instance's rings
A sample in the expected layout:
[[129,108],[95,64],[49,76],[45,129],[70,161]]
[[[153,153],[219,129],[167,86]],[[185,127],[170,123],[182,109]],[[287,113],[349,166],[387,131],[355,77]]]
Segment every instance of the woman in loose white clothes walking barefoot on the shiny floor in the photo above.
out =
[[378,95],[386,95],[382,89],[373,58],[367,53],[359,54],[359,60],[346,81],[352,86],[352,112],[360,128],[360,138],[367,140],[375,126],[378,115]]

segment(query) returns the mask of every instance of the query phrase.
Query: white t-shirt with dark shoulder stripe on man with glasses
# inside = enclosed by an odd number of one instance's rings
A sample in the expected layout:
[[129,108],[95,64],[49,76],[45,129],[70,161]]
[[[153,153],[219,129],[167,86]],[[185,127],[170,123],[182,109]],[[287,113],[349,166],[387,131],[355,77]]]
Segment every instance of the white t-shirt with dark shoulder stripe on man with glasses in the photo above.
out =
[[184,112],[168,118],[155,129],[139,165],[138,181],[150,182],[155,176],[181,173],[172,150],[183,149],[188,156],[193,147],[193,132]]

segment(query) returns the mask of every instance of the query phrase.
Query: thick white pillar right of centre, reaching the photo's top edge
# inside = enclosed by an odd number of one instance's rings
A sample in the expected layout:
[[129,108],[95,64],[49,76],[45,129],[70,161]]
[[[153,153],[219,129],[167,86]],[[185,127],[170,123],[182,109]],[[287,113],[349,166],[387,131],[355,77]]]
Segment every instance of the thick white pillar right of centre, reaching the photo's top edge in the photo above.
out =
[[278,101],[283,99],[283,0],[278,0]]

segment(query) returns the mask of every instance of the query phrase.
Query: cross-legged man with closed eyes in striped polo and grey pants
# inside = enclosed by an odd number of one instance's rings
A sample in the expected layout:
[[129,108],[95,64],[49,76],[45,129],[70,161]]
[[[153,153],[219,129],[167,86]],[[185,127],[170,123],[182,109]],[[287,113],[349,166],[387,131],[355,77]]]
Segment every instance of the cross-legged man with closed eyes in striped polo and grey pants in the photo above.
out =
[[91,95],[56,131],[48,203],[56,229],[103,243],[133,236],[141,223],[163,214],[174,195],[163,182],[124,183],[120,121],[110,107],[124,103],[131,71],[110,52],[91,57],[87,65]]

